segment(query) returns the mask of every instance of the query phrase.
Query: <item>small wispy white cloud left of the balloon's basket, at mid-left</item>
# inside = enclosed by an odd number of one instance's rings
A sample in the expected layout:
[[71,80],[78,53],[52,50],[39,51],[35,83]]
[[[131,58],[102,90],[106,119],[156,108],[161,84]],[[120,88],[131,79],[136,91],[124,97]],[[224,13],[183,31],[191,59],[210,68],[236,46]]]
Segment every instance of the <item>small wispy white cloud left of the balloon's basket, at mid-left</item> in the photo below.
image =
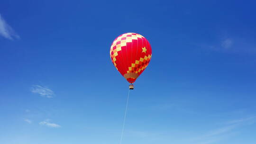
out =
[[54,91],[49,88],[42,87],[39,85],[33,85],[31,92],[37,93],[42,97],[53,98],[55,96]]

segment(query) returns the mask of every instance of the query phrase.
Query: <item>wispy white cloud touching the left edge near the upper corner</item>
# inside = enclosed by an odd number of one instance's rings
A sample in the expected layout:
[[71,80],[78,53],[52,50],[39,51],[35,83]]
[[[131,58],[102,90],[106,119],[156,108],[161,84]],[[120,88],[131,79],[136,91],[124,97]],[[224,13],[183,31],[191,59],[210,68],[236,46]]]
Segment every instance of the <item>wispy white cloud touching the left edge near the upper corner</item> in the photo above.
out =
[[19,36],[14,32],[14,30],[7,24],[0,14],[0,36],[7,39],[13,40],[14,38],[19,38]]

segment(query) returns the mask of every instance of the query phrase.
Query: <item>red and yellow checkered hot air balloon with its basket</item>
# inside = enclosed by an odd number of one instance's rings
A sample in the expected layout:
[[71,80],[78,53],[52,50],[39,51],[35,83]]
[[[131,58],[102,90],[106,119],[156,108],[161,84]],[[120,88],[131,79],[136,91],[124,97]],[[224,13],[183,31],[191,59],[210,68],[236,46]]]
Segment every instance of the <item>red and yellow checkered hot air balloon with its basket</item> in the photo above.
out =
[[144,36],[136,33],[125,33],[118,36],[110,47],[111,61],[121,75],[130,83],[129,89],[133,89],[133,83],[146,69],[151,60],[152,50]]

